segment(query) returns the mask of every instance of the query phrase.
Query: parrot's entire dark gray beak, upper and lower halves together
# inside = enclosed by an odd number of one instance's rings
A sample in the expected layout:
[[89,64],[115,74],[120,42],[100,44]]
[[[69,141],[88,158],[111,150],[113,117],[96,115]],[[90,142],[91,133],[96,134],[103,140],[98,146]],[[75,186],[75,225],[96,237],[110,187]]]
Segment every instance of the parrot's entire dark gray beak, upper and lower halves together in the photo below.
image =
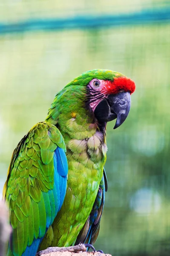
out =
[[113,129],[118,128],[127,118],[130,111],[130,93],[110,94],[95,108],[95,117],[99,123],[109,122],[117,118]]

